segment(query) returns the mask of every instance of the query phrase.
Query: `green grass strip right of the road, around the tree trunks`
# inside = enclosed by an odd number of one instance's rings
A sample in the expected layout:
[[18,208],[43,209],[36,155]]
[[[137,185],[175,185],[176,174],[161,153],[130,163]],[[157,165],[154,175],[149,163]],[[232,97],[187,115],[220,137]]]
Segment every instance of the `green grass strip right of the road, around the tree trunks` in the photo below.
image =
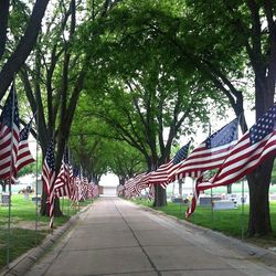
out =
[[[142,204],[152,208],[152,202],[146,200],[132,200],[136,204]],[[211,229],[217,232],[222,232],[226,235],[234,236],[236,238],[244,238],[247,242],[264,246],[276,246],[276,202],[270,202],[270,221],[274,233],[269,236],[248,238],[246,236],[247,222],[248,222],[248,205],[238,206],[234,210],[212,210],[211,208],[203,208],[198,205],[194,213],[187,220],[197,225],[201,225],[206,229]],[[168,215],[178,217],[179,220],[185,220],[185,205],[168,202],[167,206],[155,208]]]

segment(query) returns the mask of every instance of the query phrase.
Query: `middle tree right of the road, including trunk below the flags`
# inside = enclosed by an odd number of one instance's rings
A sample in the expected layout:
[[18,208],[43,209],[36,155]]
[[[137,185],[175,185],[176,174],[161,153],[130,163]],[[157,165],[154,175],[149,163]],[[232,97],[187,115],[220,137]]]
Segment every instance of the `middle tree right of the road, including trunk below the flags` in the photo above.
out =
[[[123,14],[124,11],[118,14],[117,10],[115,18],[108,19],[110,41],[103,35],[104,45],[94,53],[98,54],[100,70],[89,74],[94,103],[91,116],[112,126],[116,138],[139,150],[148,170],[153,170],[169,160],[172,142],[184,121],[182,131],[189,134],[193,121],[206,119],[204,98],[215,94],[202,91],[200,77],[191,75],[189,70],[176,70],[179,61],[168,52],[167,43],[155,40],[155,32],[147,32],[144,18],[130,18],[129,24],[126,21],[123,24],[119,23]],[[156,205],[166,203],[163,189],[156,199]]]

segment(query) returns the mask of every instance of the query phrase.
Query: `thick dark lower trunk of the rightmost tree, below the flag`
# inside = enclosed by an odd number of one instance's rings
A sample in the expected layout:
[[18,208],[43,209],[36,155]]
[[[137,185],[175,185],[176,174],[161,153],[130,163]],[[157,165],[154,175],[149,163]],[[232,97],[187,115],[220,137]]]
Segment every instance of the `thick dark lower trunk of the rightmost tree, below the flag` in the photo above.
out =
[[250,188],[248,236],[272,233],[269,215],[269,185],[274,158],[267,159],[247,176]]

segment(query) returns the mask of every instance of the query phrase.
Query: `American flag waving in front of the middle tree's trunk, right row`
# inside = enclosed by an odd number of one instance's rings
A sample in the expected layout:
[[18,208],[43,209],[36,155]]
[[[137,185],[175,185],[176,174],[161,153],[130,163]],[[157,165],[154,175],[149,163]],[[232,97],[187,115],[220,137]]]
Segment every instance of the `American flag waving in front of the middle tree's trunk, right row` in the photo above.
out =
[[169,182],[172,182],[174,180],[174,172],[179,168],[180,162],[187,158],[189,147],[190,142],[183,146],[168,163],[161,164],[153,171],[149,182],[151,184],[160,184],[162,188],[166,188]]

